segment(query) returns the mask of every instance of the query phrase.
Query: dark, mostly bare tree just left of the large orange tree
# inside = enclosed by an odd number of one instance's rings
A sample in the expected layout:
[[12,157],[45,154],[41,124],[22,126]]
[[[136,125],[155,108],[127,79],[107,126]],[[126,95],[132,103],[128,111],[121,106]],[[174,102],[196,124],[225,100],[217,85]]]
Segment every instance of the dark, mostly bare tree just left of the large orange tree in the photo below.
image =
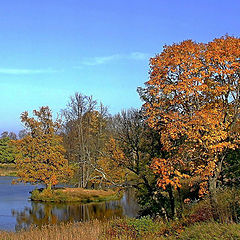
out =
[[136,188],[145,184],[151,191],[149,179],[147,179],[150,169],[146,166],[151,163],[152,152],[146,148],[147,142],[152,139],[146,137],[148,127],[141,112],[137,109],[121,111],[112,118],[112,128],[112,158],[128,169],[135,178],[141,179],[136,183]]

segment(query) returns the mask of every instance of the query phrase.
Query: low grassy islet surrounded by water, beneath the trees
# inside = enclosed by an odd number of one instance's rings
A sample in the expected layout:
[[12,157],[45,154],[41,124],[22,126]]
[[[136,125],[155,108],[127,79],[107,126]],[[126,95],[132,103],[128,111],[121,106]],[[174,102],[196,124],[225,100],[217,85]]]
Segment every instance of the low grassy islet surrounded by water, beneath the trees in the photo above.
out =
[[120,199],[122,195],[113,190],[88,190],[83,188],[62,188],[34,190],[31,200],[42,202],[101,202]]

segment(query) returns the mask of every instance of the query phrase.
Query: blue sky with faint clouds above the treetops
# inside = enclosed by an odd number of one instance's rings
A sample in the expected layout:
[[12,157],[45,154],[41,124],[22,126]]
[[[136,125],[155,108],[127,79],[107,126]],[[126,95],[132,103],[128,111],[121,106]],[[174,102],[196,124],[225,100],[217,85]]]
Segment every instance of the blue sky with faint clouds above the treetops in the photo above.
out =
[[0,131],[20,113],[65,108],[74,92],[111,113],[140,107],[148,59],[164,44],[239,37],[239,0],[1,0]]

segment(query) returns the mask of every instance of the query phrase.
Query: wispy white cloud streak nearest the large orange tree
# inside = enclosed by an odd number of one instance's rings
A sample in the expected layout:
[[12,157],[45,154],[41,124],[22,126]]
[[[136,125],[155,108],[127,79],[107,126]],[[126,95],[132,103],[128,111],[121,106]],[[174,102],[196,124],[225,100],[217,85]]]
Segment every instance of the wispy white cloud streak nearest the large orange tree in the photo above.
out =
[[132,52],[130,54],[114,54],[110,56],[87,58],[81,62],[81,65],[96,66],[96,65],[101,65],[108,62],[116,61],[119,59],[147,60],[148,58],[149,58],[149,54],[147,53]]

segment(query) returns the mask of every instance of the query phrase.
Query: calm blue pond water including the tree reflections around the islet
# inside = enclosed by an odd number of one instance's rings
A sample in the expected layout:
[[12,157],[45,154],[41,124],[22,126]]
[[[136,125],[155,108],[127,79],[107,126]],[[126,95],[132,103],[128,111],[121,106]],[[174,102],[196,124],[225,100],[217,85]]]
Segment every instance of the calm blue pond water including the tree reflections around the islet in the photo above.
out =
[[[0,177],[0,230],[18,231],[31,224],[57,224],[112,217],[135,217],[138,206],[132,191],[118,201],[89,204],[36,203],[28,200],[36,186],[12,185],[13,177]],[[40,186],[39,186],[40,187]]]

